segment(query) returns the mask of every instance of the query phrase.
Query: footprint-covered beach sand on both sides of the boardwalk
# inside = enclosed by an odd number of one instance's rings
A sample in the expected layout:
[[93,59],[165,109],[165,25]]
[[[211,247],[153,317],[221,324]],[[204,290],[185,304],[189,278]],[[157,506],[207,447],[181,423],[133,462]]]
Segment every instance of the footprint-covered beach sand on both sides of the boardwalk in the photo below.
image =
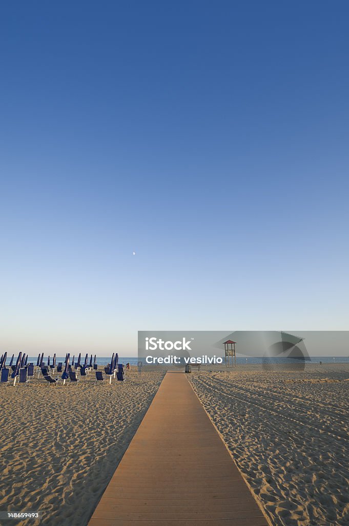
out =
[[[78,385],[1,386],[0,509],[86,525],[163,376],[132,367],[123,385],[94,385],[91,372]],[[349,524],[349,364],[187,378],[271,524]]]

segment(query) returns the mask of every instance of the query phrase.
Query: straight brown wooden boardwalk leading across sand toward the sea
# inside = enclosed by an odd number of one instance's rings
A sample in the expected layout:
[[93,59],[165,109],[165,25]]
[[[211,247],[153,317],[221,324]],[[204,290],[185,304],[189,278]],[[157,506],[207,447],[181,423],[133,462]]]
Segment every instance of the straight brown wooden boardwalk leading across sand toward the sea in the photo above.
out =
[[89,526],[266,526],[184,373],[167,372]]

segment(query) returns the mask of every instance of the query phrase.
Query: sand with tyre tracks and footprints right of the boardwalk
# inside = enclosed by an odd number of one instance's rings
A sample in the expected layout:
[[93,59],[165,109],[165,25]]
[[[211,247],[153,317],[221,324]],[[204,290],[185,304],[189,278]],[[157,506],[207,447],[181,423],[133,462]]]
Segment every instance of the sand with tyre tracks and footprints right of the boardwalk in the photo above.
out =
[[349,524],[348,364],[189,378],[272,524]]

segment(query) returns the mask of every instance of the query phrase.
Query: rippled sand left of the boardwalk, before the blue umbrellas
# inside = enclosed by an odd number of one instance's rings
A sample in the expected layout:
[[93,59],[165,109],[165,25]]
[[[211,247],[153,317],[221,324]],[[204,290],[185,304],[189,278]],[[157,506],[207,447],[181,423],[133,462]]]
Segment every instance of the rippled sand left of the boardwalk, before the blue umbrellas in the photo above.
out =
[[163,376],[133,367],[123,385],[94,385],[91,372],[78,385],[0,386],[0,509],[43,512],[11,522],[87,524]]

